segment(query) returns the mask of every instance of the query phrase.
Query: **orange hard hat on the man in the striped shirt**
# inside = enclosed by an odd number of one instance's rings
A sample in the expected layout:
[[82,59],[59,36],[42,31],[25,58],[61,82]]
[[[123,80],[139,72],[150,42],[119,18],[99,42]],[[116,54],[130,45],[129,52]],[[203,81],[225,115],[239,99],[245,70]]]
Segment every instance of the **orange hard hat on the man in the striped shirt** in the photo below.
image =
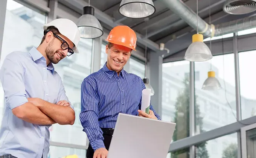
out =
[[106,41],[125,46],[136,51],[136,33],[128,26],[120,25],[114,27],[108,34]]

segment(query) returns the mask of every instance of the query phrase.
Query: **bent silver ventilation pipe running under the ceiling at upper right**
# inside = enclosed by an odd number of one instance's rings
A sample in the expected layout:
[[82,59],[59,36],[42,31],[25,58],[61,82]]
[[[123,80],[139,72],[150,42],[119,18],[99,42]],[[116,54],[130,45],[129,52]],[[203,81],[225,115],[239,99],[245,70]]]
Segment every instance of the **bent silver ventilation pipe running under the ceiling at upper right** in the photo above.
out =
[[[197,14],[190,9],[182,0],[162,0],[168,8],[177,14],[182,20],[197,30]],[[221,36],[228,33],[234,33],[245,29],[256,27],[256,16],[247,17],[239,20],[230,21],[218,25],[209,25],[198,16],[198,33],[205,38]]]

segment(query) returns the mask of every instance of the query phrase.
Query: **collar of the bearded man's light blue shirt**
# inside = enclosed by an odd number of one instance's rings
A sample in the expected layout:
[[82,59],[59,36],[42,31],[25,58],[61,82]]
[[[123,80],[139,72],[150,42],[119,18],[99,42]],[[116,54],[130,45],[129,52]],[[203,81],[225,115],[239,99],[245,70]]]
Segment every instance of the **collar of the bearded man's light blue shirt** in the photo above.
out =
[[[46,65],[46,59],[35,47],[32,47],[32,49],[30,49],[29,54],[31,55],[34,62],[40,60]],[[54,74],[54,67],[51,62],[47,65],[47,69],[50,70],[52,74]]]

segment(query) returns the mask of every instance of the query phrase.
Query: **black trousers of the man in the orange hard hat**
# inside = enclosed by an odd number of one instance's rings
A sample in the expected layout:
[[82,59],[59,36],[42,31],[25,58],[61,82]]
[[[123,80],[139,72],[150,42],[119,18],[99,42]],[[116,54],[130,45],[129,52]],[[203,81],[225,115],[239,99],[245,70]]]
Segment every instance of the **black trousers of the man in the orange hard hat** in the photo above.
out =
[[[102,128],[102,131],[103,131],[103,137],[104,137],[103,142],[104,142],[106,149],[108,150],[114,130]],[[91,147],[91,144],[89,144],[87,152],[86,152],[86,158],[93,158],[93,154],[94,154],[94,150]]]

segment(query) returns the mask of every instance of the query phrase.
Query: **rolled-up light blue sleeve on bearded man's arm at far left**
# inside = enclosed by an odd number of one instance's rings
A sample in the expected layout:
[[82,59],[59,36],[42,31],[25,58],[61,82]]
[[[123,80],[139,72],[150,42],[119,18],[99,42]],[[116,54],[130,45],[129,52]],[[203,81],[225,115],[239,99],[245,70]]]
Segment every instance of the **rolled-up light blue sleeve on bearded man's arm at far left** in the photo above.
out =
[[0,69],[0,80],[8,108],[13,109],[28,102],[24,84],[24,68],[18,57],[6,56]]

